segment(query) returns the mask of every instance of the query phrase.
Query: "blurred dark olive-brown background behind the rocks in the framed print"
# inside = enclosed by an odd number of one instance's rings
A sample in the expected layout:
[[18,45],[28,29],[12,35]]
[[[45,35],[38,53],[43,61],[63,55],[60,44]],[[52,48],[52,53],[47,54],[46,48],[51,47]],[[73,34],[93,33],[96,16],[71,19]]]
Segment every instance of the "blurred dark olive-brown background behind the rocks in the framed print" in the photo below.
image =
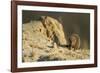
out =
[[33,20],[41,20],[41,16],[50,16],[57,19],[64,28],[67,38],[77,33],[80,36],[81,48],[90,49],[90,14],[68,12],[22,11],[22,24]]

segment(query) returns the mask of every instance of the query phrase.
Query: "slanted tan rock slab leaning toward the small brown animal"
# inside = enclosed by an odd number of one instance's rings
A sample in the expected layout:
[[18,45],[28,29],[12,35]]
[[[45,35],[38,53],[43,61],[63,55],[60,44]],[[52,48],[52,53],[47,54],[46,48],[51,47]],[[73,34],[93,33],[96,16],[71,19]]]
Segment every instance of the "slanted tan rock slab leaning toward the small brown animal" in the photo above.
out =
[[59,45],[66,45],[67,41],[64,35],[63,25],[49,16],[42,16],[42,19],[43,25],[47,30],[47,37]]

